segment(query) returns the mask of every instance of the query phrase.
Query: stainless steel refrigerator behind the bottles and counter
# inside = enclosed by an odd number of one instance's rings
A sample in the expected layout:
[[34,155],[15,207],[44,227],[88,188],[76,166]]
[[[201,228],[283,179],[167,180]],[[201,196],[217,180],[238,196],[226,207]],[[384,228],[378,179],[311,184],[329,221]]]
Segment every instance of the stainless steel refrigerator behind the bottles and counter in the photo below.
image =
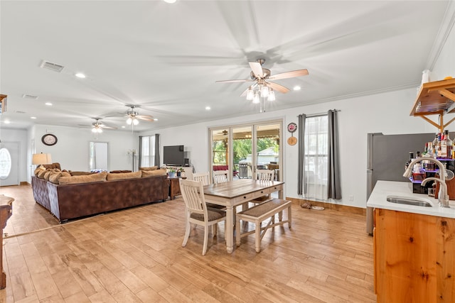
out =
[[[410,152],[423,153],[425,143],[434,140],[434,133],[383,135],[368,133],[367,201],[378,180],[407,181],[403,177]],[[367,207],[367,233],[373,234],[373,209]]]

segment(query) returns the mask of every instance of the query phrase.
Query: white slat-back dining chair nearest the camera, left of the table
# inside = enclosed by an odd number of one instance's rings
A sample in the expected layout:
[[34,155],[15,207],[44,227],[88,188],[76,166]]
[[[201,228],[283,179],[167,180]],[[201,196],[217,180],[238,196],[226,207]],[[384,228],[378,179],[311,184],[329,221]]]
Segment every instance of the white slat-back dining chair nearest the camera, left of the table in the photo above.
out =
[[213,236],[217,233],[218,222],[226,220],[226,212],[209,209],[205,204],[204,188],[201,182],[179,179],[180,190],[186,207],[186,231],[182,246],[185,247],[190,237],[191,224],[204,226],[204,244],[202,255],[207,252],[208,228],[213,226]]

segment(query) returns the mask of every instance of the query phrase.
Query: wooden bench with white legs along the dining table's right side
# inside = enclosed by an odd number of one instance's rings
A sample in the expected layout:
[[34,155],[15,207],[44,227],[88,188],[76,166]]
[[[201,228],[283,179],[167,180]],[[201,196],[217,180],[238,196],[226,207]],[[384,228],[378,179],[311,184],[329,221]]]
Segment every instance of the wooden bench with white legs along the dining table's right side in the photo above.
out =
[[[259,251],[261,251],[261,240],[264,237],[264,234],[267,231],[267,229],[277,225],[284,226],[285,223],[288,223],[289,228],[291,228],[291,204],[292,204],[291,201],[283,199],[271,199],[267,202],[257,204],[256,206],[252,206],[250,209],[246,209],[244,211],[240,211],[239,213],[237,213],[235,215],[237,221],[236,224],[237,236],[235,237],[237,246],[240,246],[240,238],[255,233],[255,248],[256,252],[259,253]],[[283,221],[284,209],[287,209],[287,220],[285,221]],[[278,214],[279,218],[279,222],[277,223],[275,223],[275,214]],[[271,218],[271,220],[269,221],[267,226],[261,227],[262,221],[269,218]],[[242,233],[240,220],[254,223],[255,230]]]

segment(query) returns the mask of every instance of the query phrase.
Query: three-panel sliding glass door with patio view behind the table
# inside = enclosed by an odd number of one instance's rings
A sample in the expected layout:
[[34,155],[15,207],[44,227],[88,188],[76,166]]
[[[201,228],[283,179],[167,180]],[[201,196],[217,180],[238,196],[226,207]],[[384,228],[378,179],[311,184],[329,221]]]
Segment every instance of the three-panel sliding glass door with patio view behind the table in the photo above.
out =
[[282,180],[282,121],[210,128],[210,171],[228,170],[228,179],[255,179],[258,169]]

